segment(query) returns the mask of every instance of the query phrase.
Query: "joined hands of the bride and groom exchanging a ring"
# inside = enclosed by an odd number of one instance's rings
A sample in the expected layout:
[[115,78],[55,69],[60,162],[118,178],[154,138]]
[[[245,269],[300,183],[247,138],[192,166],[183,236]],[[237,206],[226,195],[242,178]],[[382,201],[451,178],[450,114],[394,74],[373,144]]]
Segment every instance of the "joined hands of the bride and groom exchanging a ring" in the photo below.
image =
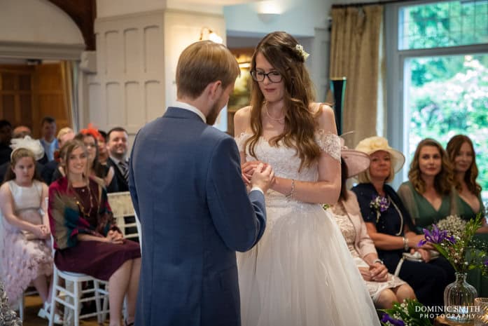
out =
[[241,165],[242,179],[246,186],[258,186],[264,193],[276,182],[271,165],[260,161],[249,161]]

